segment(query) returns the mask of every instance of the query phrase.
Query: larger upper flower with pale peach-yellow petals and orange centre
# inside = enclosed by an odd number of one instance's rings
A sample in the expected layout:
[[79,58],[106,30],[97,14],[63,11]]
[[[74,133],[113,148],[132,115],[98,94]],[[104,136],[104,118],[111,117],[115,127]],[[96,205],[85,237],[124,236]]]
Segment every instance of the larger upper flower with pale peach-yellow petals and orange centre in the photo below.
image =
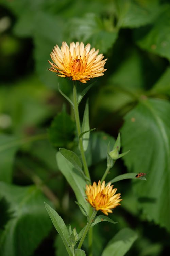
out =
[[79,80],[86,83],[90,78],[104,75],[104,65],[107,59],[103,54],[99,54],[99,50],[92,48],[90,44],[84,47],[81,42],[70,43],[70,47],[66,42],[62,43],[61,49],[56,45],[50,54],[54,63],[48,61],[51,65],[49,69],[52,72],[60,73],[58,76],[69,77],[72,80]]

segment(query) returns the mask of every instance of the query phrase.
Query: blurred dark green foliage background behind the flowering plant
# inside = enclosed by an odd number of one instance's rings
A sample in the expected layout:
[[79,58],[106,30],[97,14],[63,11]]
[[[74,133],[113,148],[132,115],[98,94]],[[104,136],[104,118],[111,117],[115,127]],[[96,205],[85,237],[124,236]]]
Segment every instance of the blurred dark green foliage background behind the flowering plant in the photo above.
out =
[[86,223],[56,163],[59,147],[77,150],[73,111],[58,93],[60,84],[71,97],[72,83],[47,69],[62,41],[90,43],[108,58],[80,105],[82,119],[89,98],[96,128],[86,152],[92,181],[119,131],[130,153],[108,180],[147,173],[114,184],[123,201],[109,217],[118,224],[95,226],[94,256],[124,227],[138,234],[126,255],[169,255],[170,1],[1,0],[0,10],[0,255],[66,255],[44,201],[72,228]]

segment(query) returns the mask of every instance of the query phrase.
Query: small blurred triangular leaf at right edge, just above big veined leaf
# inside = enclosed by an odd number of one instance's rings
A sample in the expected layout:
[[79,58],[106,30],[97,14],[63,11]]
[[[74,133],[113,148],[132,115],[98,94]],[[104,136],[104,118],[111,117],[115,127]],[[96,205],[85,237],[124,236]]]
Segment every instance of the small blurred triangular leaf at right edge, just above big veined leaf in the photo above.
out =
[[170,67],[166,69],[160,79],[156,82],[150,93],[165,93],[170,96]]

